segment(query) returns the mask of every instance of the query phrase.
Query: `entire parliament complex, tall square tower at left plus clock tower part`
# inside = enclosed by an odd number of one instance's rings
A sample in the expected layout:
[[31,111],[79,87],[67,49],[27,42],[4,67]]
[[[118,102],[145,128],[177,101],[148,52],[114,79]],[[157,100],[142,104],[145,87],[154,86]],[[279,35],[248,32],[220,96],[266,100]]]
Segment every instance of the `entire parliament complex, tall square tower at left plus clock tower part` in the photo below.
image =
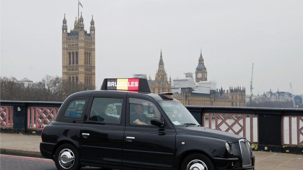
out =
[[[95,89],[95,22],[90,21],[89,32],[84,29],[84,19],[75,19],[74,28],[67,31],[64,15],[62,22],[62,81],[71,86],[82,83],[86,89]],[[135,77],[146,75],[135,75]],[[152,93],[172,92],[174,98],[184,105],[200,106],[245,106],[245,88],[230,87],[228,90],[217,88],[215,81],[207,81],[207,69],[202,51],[193,73],[185,73],[185,78],[172,80],[164,68],[162,50],[155,79],[148,77]]]

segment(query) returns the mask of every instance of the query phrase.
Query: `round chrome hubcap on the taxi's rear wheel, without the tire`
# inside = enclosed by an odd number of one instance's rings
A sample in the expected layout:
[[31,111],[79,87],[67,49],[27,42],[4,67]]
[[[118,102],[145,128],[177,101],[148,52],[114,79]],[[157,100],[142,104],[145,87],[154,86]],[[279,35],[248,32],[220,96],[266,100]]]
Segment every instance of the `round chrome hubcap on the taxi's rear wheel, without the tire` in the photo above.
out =
[[74,153],[69,149],[63,149],[59,153],[59,164],[64,169],[71,168],[75,163],[75,155]]

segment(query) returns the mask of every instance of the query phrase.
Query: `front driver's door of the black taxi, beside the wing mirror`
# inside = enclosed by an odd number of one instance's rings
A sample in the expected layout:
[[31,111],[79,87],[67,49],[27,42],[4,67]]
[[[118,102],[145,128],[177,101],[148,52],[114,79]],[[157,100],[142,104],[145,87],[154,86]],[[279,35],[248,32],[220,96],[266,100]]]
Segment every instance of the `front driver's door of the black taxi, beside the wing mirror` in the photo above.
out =
[[[158,104],[147,95],[132,93],[127,94],[126,102],[123,167],[173,169],[176,131],[160,112]],[[137,106],[144,108],[145,116],[141,115],[143,111],[138,111]],[[134,123],[137,119],[142,122],[148,122],[148,119],[150,122],[152,117],[162,118],[165,126],[161,128],[151,124]]]

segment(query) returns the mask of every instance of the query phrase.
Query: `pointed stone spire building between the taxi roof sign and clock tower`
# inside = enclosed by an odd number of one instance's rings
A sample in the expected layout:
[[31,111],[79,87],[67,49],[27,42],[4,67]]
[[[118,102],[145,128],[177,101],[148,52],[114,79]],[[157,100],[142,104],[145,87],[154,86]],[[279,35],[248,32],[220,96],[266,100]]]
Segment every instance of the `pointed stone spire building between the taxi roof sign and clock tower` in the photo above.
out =
[[158,64],[158,70],[155,76],[155,80],[152,80],[151,76],[148,77],[148,84],[152,93],[171,92],[171,78],[168,81],[167,73],[164,69],[164,62],[162,58],[162,50],[160,53],[160,60]]

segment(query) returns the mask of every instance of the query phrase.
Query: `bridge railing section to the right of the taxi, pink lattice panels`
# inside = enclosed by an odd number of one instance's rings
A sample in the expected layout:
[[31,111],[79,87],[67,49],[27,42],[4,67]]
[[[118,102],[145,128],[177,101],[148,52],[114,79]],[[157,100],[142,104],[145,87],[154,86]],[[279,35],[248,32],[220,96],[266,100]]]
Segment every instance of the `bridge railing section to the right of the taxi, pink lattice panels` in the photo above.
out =
[[303,152],[303,109],[186,107],[204,127],[246,137],[255,150]]

